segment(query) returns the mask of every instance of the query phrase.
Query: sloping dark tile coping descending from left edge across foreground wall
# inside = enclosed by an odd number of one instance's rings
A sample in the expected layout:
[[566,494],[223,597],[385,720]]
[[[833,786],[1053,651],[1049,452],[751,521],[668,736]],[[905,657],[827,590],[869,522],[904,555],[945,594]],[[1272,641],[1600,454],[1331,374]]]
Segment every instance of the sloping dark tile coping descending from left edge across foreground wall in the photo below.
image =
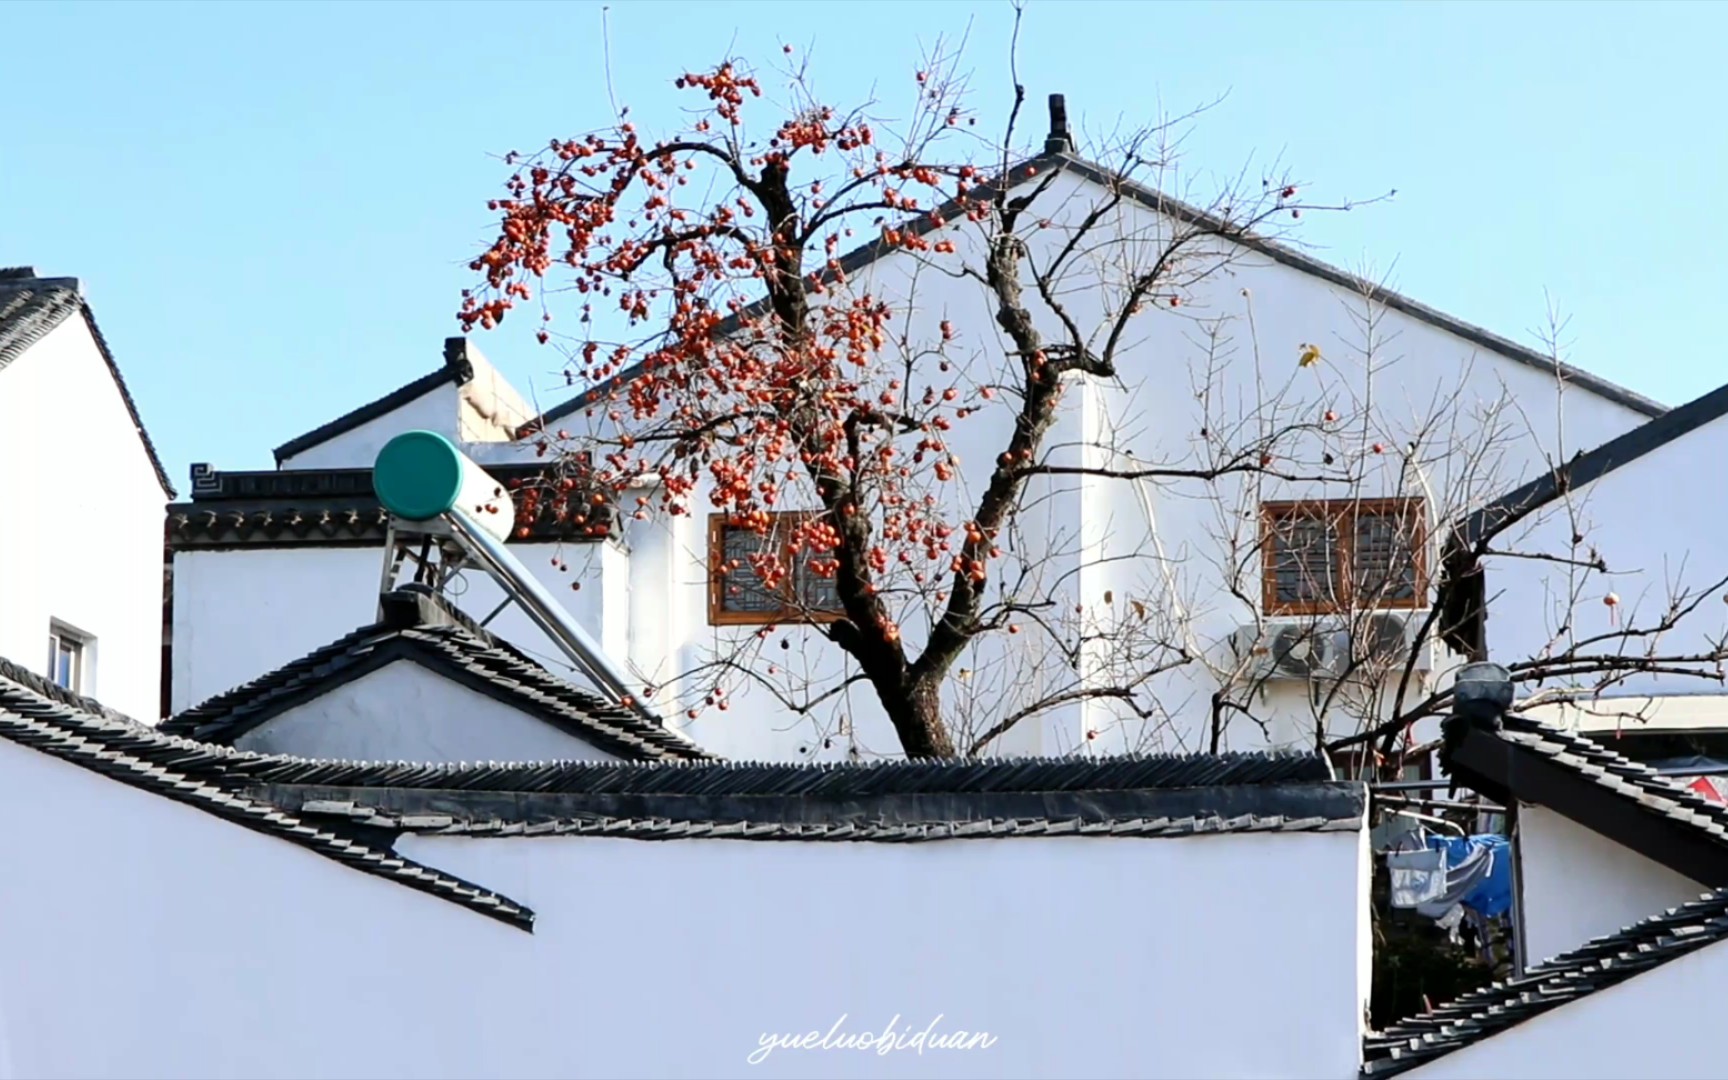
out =
[[105,708],[86,708],[74,695],[0,660],[0,738],[154,795],[195,807],[244,828],[297,843],[361,873],[461,904],[530,930],[534,912],[487,888],[422,866],[359,840],[354,831],[314,826],[221,783],[232,750],[173,738]]

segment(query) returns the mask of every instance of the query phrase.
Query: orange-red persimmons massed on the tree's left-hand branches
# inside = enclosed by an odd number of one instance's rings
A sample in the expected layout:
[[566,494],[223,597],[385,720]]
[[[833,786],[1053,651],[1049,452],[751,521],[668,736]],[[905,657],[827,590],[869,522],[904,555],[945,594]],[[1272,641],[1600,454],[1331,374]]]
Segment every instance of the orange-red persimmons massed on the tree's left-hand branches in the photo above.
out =
[[[608,432],[584,441],[593,453],[562,479],[518,492],[518,525],[550,513],[603,534],[615,511],[689,515],[705,496],[734,527],[774,536],[752,560],[769,588],[798,560],[819,575],[852,574],[850,596],[876,596],[892,572],[983,581],[1001,550],[937,491],[959,477],[952,425],[992,401],[992,387],[950,361],[962,342],[949,321],[928,347],[897,337],[907,311],[850,292],[840,249],[864,232],[954,256],[952,223],[992,211],[987,178],[890,157],[869,123],[831,107],[783,119],[752,149],[743,114],[762,88],[731,62],[676,86],[705,95],[708,112],[681,137],[643,142],[620,123],[551,140],[506,159],[517,171],[491,202],[498,237],[470,264],[484,285],[463,292],[463,328],[499,325],[556,271],[582,327],[565,339],[575,342],[569,377],[596,387],[586,406]],[[952,126],[957,111],[930,107],[947,112],[938,131]],[[798,161],[821,156],[821,176],[793,178]],[[551,313],[541,318],[550,342]],[[657,334],[601,342],[596,320]],[[546,454],[569,434],[537,439]],[[790,527],[772,513],[812,505],[819,513]],[[885,615],[881,629],[899,636]]]

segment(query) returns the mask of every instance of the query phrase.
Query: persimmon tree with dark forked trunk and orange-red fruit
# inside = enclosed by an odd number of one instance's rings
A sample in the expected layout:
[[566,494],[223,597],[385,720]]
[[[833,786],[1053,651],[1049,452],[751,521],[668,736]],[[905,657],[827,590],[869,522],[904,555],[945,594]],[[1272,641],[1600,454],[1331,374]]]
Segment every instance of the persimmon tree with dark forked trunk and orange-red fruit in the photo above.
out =
[[[1047,453],[1068,382],[1116,373],[1130,321],[1180,306],[1223,261],[1208,238],[1294,219],[1306,206],[1294,185],[1268,180],[1253,197],[1225,199],[1227,214],[1156,247],[1132,244],[1125,273],[1108,282],[1108,314],[1082,323],[1063,289],[1109,240],[1102,226],[1123,195],[1078,216],[1063,207],[1064,225],[1052,223],[1058,169],[1011,154],[1023,88],[992,142],[942,54],[911,79],[916,107],[900,124],[821,104],[795,74],[793,100],[764,130],[762,79],[741,60],[684,73],[676,86],[702,102],[676,135],[648,138],[624,119],[510,156],[518,171],[492,204],[499,235],[473,263],[486,280],[465,295],[461,321],[491,328],[541,301],[539,339],[569,349],[572,380],[600,387],[591,406],[615,425],[572,484],[596,505],[653,477],[651,494],[624,511],[688,515],[705,499],[736,527],[767,532],[774,508],[817,508],[753,556],[753,574],[774,588],[814,553],[843,613],[826,632],[855,658],[904,752],[954,755],[964,746],[943,719],[942,688],[956,660],[980,636],[1021,632],[1054,607],[1049,596],[997,600],[988,586],[1028,484],[1082,468]],[[1121,142],[1113,183],[1154,164],[1154,135]],[[1028,242],[1045,230],[1061,240]],[[852,287],[842,252],[866,238],[983,292],[1004,335],[1004,363],[992,368],[1001,378],[982,377],[978,344],[961,346],[954,323],[907,340],[897,328],[905,297]],[[553,323],[565,302],[574,335]],[[596,308],[620,313],[638,337],[601,340],[589,332]],[[983,411],[1009,416],[1001,448],[990,463],[962,463],[954,430]],[[1286,434],[1255,432],[1201,472],[1265,468]],[[976,467],[988,470],[978,491],[957,498],[962,468]],[[1132,693],[1090,686],[1070,698]]]

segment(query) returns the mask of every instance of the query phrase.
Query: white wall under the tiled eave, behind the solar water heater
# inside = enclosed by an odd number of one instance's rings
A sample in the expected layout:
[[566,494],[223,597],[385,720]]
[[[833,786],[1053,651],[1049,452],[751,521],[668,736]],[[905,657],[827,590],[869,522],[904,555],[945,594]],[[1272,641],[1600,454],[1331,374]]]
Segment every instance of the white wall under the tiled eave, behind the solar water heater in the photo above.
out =
[[[541,584],[596,639],[607,629],[605,589],[588,567],[594,544],[511,544]],[[558,570],[555,560],[569,565]],[[180,712],[330,645],[378,617],[384,546],[190,550],[175,553],[173,708]],[[582,581],[582,589],[570,584]],[[453,586],[456,605],[486,619],[505,598],[482,572]],[[613,608],[612,620],[626,612]],[[588,684],[517,607],[487,629],[548,670]]]

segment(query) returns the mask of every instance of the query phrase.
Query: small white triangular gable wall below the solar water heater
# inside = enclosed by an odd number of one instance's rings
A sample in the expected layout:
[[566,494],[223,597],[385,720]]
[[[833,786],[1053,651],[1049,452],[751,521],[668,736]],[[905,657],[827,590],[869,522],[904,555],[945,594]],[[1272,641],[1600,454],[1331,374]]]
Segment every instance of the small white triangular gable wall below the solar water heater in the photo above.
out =
[[617,760],[411,660],[344,683],[259,724],[235,745],[363,762]]

